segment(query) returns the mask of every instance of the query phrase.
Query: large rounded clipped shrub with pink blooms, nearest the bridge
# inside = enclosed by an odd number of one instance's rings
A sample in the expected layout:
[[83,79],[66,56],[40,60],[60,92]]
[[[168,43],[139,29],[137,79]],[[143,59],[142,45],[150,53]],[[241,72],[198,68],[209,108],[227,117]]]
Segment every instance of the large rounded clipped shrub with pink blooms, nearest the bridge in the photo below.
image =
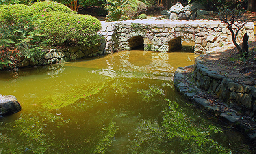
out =
[[40,27],[46,39],[53,45],[91,46],[97,43],[101,24],[98,19],[89,15],[74,15],[61,12],[42,14]]

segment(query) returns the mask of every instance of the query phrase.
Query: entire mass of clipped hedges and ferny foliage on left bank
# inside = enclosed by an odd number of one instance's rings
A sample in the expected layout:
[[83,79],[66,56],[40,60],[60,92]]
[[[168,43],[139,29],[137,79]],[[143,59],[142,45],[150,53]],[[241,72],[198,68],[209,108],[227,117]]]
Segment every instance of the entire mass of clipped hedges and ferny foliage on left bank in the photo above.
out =
[[95,45],[100,28],[95,17],[77,15],[56,2],[1,5],[0,69],[15,67],[23,59],[33,61],[49,45]]

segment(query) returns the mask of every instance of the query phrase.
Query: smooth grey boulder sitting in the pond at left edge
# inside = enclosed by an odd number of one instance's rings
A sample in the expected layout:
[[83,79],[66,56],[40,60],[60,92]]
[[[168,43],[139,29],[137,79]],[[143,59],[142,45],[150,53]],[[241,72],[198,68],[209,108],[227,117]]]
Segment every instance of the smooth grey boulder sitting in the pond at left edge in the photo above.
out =
[[21,106],[15,96],[3,96],[0,94],[0,116],[14,114],[19,111],[21,111]]

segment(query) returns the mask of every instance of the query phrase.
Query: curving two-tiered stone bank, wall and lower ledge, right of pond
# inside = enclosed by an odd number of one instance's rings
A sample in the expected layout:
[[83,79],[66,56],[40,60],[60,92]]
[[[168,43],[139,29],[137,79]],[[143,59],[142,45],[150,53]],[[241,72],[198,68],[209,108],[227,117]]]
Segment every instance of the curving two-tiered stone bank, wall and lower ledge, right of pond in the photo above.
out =
[[[176,90],[184,98],[215,116],[218,120],[244,133],[247,139],[251,141],[251,147],[255,148],[256,88],[233,83],[216,71],[210,71],[202,64],[203,57],[204,55],[197,57],[195,65],[180,67],[176,70],[174,75]],[[235,92],[241,95],[239,102],[236,102],[239,99],[233,94]],[[236,101],[233,100],[230,103],[232,98]]]

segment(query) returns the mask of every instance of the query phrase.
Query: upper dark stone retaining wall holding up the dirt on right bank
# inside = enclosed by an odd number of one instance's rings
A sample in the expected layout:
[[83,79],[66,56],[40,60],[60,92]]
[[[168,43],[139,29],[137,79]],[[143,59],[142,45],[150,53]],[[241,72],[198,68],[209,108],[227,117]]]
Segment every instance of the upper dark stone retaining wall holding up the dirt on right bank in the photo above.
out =
[[256,111],[256,88],[240,85],[216,71],[210,71],[202,64],[202,58],[203,55],[196,58],[194,67],[195,81],[200,88],[214,92],[226,103],[252,116]]

